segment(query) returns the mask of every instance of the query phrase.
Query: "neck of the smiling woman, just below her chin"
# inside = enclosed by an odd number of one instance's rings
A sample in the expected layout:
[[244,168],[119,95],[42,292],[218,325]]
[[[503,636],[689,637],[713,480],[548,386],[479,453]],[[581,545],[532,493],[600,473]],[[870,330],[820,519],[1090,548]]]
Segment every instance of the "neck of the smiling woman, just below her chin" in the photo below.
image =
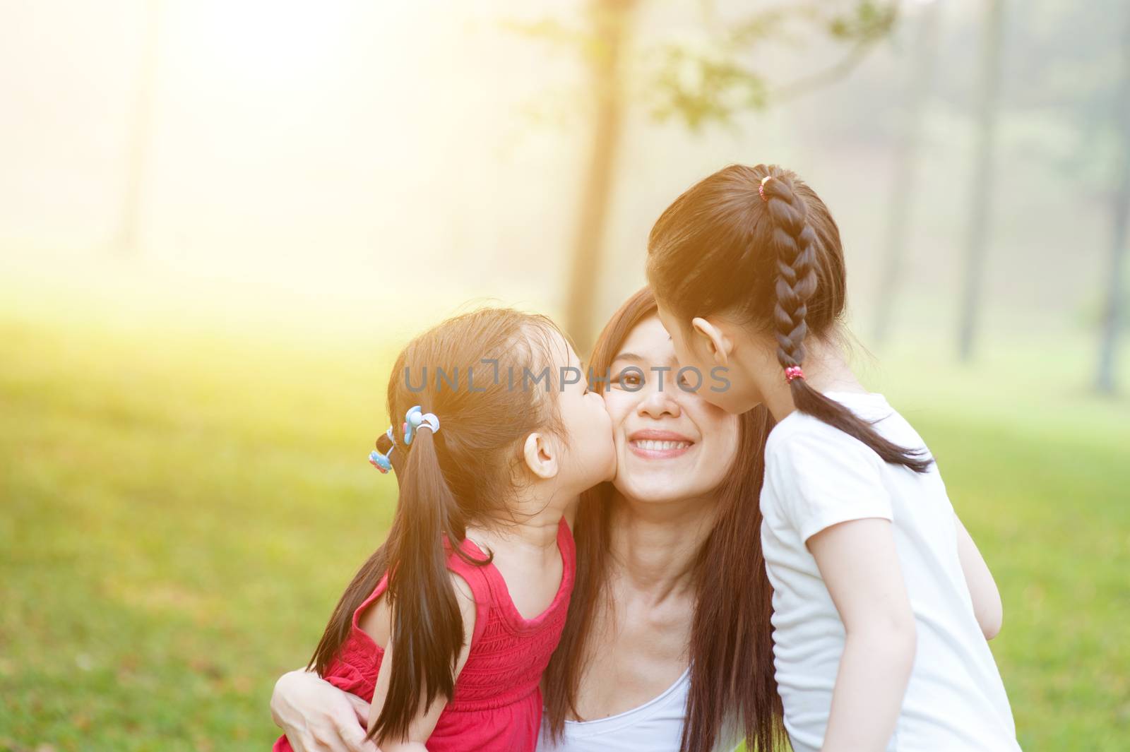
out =
[[[655,601],[693,587],[695,558],[713,528],[713,497],[638,501],[616,492],[611,526],[615,576]],[[709,507],[710,514],[703,514]]]

